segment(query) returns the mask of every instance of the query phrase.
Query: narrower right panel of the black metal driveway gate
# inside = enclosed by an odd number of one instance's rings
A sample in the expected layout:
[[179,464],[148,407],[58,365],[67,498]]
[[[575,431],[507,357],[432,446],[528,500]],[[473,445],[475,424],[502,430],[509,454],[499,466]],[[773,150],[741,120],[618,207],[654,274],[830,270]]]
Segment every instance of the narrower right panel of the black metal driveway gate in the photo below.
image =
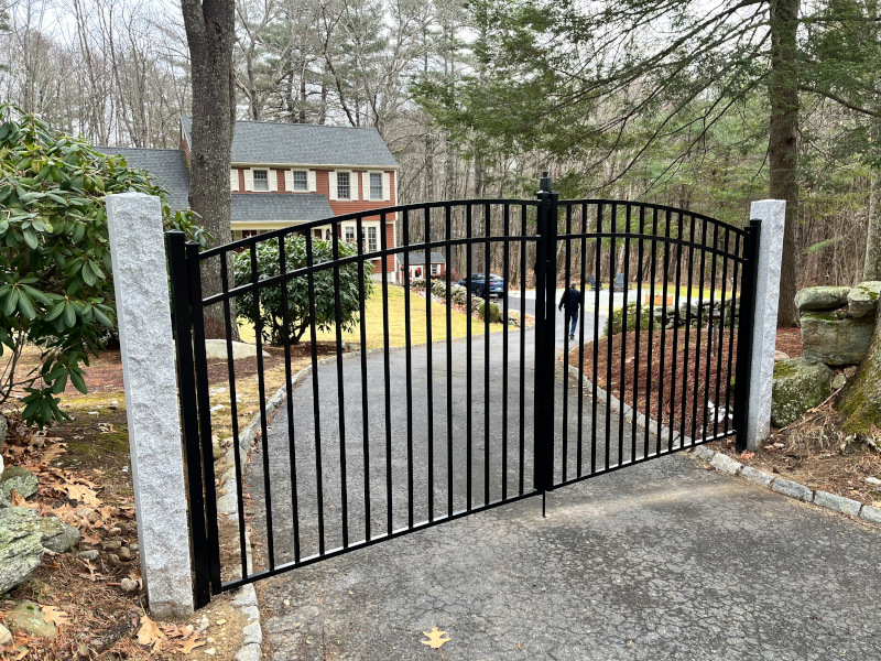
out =
[[558,208],[558,284],[580,306],[576,335],[566,315],[553,339],[565,357],[554,486],[733,435],[737,310],[752,308],[744,230],[641,203]]

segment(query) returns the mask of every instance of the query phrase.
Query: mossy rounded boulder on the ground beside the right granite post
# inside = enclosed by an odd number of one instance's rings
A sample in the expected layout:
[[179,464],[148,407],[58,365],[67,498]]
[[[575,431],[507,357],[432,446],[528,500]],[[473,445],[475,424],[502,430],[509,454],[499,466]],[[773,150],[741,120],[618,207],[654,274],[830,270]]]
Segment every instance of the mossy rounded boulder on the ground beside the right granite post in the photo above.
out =
[[771,423],[782,427],[831,394],[829,382],[835,372],[822,362],[791,358],[774,365],[771,390]]

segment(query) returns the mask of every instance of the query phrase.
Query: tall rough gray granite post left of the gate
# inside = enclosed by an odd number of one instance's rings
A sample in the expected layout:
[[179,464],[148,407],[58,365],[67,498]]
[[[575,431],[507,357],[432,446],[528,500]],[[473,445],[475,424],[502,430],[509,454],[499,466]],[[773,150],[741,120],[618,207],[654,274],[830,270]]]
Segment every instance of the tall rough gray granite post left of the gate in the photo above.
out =
[[193,613],[189,529],[159,197],[107,198],[138,543],[150,613]]

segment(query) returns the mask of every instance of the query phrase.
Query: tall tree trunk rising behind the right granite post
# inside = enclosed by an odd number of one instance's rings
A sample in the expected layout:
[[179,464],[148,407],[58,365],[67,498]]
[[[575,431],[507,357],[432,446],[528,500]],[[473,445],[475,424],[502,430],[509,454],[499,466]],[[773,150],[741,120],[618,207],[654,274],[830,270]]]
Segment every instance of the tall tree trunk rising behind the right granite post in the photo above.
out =
[[795,241],[798,207],[798,67],[796,30],[798,0],[771,0],[771,127],[768,156],[771,167],[770,195],[786,201],[783,232],[783,263],[780,278],[777,325],[798,325],[795,292],[798,286]]

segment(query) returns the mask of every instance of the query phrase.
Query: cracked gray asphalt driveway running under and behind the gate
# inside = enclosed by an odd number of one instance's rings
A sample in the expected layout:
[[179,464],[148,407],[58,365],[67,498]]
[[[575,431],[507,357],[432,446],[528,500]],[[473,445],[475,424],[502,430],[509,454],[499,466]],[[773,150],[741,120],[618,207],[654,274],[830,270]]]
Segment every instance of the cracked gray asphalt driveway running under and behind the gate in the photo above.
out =
[[[520,335],[509,337],[508,369],[511,375],[522,369],[529,386],[531,332],[523,339],[525,360],[520,364]],[[521,393],[519,379],[509,379],[508,402],[502,399],[502,342],[500,335],[491,336],[488,393],[483,339],[470,345],[475,503],[483,499],[487,438],[491,498],[502,492],[503,455],[509,489],[519,485]],[[341,407],[336,366],[318,370],[327,548],[341,541],[340,410],[350,540],[365,534],[366,484],[372,529],[387,522],[387,423],[392,430],[388,456],[394,527],[407,521],[409,452],[414,457],[416,521],[427,516],[428,465],[435,466],[435,486],[444,487],[436,488],[431,499],[435,511],[447,506],[450,467],[456,507],[466,505],[468,344],[452,347],[449,362],[445,345],[433,348],[431,369],[435,411],[446,411],[447,379],[452,379],[452,455],[445,415],[432,418],[434,442],[428,453],[425,349],[414,349],[410,357],[410,405],[406,354],[389,356],[393,407],[388,418],[381,354],[368,357],[366,420],[360,361],[344,362]],[[293,400],[295,492],[304,555],[318,543],[318,503],[312,496],[316,487],[312,386],[311,380],[302,383]],[[529,388],[523,395],[527,401],[532,397]],[[562,388],[556,395],[559,410]],[[570,407],[577,404],[572,388],[566,398]],[[485,402],[489,402],[489,427]],[[507,434],[501,433],[504,409]],[[532,419],[530,407],[525,409],[524,446],[530,448]],[[590,407],[584,409],[583,429],[594,424],[603,429],[602,410],[594,421]],[[570,416],[567,443],[577,435],[577,415]],[[610,422],[610,441],[617,443],[617,420]],[[276,562],[293,559],[287,431],[282,407],[268,437]],[[557,429],[557,456],[563,435]],[[605,442],[599,438],[598,454]],[[365,446],[370,454],[367,473]],[[248,474],[254,523],[263,535],[259,542],[265,542],[267,523],[262,462],[258,452]],[[529,489],[529,452],[523,468]],[[258,593],[268,658],[278,660],[868,660],[881,659],[881,620],[874,608],[881,595],[879,561],[881,538],[875,530],[674,455],[554,491],[546,519],[540,499],[521,500],[263,581]],[[449,632],[450,641],[439,650],[420,642],[425,638],[422,631],[433,625]]]

